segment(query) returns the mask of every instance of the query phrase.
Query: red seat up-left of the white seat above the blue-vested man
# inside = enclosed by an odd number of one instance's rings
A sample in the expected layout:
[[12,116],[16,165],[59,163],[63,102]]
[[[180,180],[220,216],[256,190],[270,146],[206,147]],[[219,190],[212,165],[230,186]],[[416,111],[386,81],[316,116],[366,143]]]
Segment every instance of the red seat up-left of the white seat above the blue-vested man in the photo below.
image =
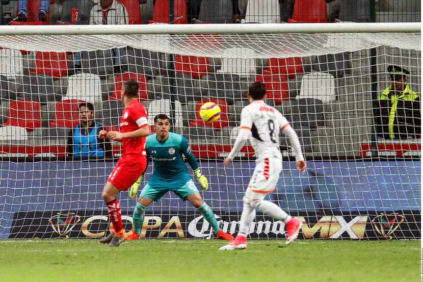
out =
[[68,62],[66,53],[37,52],[35,67],[31,74],[44,74],[60,79],[68,75]]

